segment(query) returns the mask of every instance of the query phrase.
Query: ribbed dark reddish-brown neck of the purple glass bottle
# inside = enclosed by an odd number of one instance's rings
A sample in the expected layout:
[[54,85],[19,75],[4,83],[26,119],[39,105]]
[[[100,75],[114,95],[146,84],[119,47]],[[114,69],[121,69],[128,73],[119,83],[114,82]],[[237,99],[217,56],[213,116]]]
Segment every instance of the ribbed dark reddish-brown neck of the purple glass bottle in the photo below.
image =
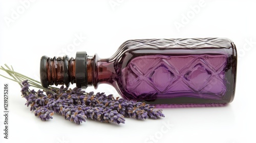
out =
[[40,79],[44,87],[55,84],[76,83],[77,87],[94,86],[99,83],[114,82],[114,62],[109,59],[98,59],[97,55],[68,56],[48,58],[43,56],[40,63]]

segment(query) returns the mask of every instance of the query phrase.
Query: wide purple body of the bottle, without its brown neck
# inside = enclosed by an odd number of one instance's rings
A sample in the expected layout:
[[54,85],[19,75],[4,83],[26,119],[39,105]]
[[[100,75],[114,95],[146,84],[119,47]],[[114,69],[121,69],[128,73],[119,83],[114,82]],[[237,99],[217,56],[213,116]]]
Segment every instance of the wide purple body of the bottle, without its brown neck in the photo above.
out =
[[118,53],[124,56],[119,59],[122,66],[116,85],[126,99],[151,104],[233,100],[237,53],[229,39],[131,40],[120,49],[126,50]]

